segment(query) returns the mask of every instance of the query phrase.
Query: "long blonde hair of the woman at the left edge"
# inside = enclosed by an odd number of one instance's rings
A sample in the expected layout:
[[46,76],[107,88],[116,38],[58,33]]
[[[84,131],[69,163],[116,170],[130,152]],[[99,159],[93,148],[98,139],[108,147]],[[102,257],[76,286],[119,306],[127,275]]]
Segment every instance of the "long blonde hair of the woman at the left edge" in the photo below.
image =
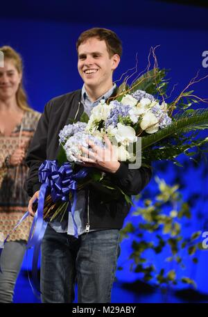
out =
[[[23,63],[21,56],[15,49],[12,49],[10,46],[0,47],[0,51],[3,52],[4,60],[12,60],[15,65],[15,68],[19,74],[23,72]],[[16,92],[17,105],[24,111],[32,111],[31,107],[28,105],[28,97],[26,91],[24,90],[22,79],[19,83],[19,88]]]

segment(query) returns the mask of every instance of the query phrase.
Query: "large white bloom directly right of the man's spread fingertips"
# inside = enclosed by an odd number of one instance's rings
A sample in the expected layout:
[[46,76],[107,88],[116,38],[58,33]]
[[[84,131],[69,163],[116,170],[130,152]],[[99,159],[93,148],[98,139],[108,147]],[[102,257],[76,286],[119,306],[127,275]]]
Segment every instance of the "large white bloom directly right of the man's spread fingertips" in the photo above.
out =
[[122,145],[129,145],[129,143],[137,142],[135,129],[125,126],[121,123],[117,124],[117,129],[114,134],[116,141]]

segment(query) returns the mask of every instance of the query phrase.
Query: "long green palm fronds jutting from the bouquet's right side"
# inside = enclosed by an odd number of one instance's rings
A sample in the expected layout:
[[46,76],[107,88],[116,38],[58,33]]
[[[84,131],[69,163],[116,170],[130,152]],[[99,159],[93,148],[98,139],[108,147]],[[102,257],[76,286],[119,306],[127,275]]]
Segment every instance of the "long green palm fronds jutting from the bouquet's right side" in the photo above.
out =
[[180,154],[184,154],[189,160],[195,160],[193,156],[207,153],[208,138],[196,138],[200,130],[207,128],[207,109],[178,113],[168,127],[141,138],[142,157],[148,157],[150,161],[173,161],[175,165],[182,167],[175,159]]

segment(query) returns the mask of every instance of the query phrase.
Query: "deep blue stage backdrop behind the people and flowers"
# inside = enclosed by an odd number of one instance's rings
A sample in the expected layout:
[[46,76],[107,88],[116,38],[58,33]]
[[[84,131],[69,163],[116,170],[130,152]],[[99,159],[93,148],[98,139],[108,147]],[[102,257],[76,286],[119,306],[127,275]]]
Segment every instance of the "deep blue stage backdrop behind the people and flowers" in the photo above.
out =
[[[38,1],[37,1],[38,2]],[[94,15],[90,10],[82,11],[80,15],[71,18],[70,6],[68,8],[69,19],[61,17],[55,19],[55,14],[49,14],[44,19],[44,12],[47,10],[48,1],[42,1],[40,6],[40,16],[31,17],[28,9],[28,17],[17,11],[17,15],[12,11],[6,14],[1,10],[0,5],[0,46],[8,44],[17,49],[24,59],[25,87],[28,92],[30,104],[38,111],[43,111],[44,104],[49,99],[62,95],[66,92],[81,88],[82,80],[77,71],[76,40],[82,31],[94,26],[101,26],[115,31],[123,42],[123,56],[118,70],[114,73],[114,81],[121,77],[126,70],[135,67],[136,55],[138,59],[138,72],[144,70],[148,64],[148,54],[150,47],[157,47],[155,53],[159,67],[169,69],[168,78],[170,87],[177,84],[172,97],[178,95],[187,86],[198,70],[200,77],[208,74],[208,67],[202,67],[202,53],[207,51],[208,28],[202,24],[201,19],[208,16],[207,8],[195,8],[180,6],[180,4],[170,4],[158,1],[132,1],[133,18],[138,19],[131,23],[130,17],[126,17],[125,8],[122,3],[117,7],[112,5],[112,10],[99,10],[98,17],[94,22]],[[54,4],[55,1],[52,1]],[[63,3],[63,1],[59,1]],[[71,1],[69,1],[71,2]],[[92,1],[94,3],[94,1]],[[118,3],[117,1],[115,1]],[[142,1],[143,2],[143,1]],[[24,3],[24,1],[20,1]],[[79,2],[80,3],[80,2]],[[153,4],[152,4],[153,3]],[[110,3],[109,3],[110,4]],[[58,4],[57,4],[58,5]],[[82,1],[80,6],[82,5]],[[98,4],[96,4],[98,6]],[[33,5],[31,5],[33,7]],[[74,3],[73,3],[74,6]],[[78,6],[78,5],[77,5]],[[152,7],[153,6],[153,7]],[[103,8],[103,7],[102,7]],[[117,10],[117,8],[119,8]],[[155,8],[157,10],[155,11]],[[22,7],[24,10],[24,7]],[[45,11],[44,11],[45,10]],[[121,18],[113,18],[122,13]],[[135,14],[137,12],[137,15]],[[49,9],[50,12],[50,9]],[[190,22],[196,12],[195,23]],[[94,11],[93,11],[94,13]],[[127,15],[130,9],[128,8]],[[58,11],[58,14],[61,14]],[[90,23],[84,18],[88,15]],[[173,16],[175,15],[175,18]],[[83,17],[83,19],[82,19]],[[109,17],[109,18],[108,18]],[[169,19],[168,19],[169,17]],[[148,20],[150,23],[148,23]],[[170,20],[173,24],[170,23]],[[162,22],[163,21],[163,22]],[[181,22],[181,23],[180,23]],[[186,23],[187,22],[187,23]],[[190,24],[191,23],[191,24]],[[201,81],[194,86],[196,95],[208,97],[208,79]],[[207,104],[202,104],[207,107]],[[166,165],[165,171],[162,165]],[[205,161],[201,161],[198,168],[194,168],[193,163],[185,161],[185,170],[175,165],[162,163],[155,164],[154,175],[164,178],[170,185],[175,184],[175,175],[180,174],[182,182],[181,193],[186,200],[193,197],[191,206],[192,219],[188,228],[189,231],[208,231],[208,204],[207,204],[207,168]],[[156,193],[154,177],[148,185],[148,193],[153,197]],[[142,198],[141,198],[142,199]],[[139,202],[141,205],[141,202]],[[137,217],[128,217],[127,222],[138,222]],[[131,240],[122,243],[122,254],[119,259],[119,266],[124,266],[123,270],[117,272],[117,278],[123,282],[133,282],[140,277],[137,273],[130,273],[128,265],[128,255],[130,254]],[[149,254],[153,263],[163,266],[164,262],[155,254]],[[168,255],[167,255],[168,256]],[[190,261],[187,263],[188,273],[195,279],[199,291],[208,293],[208,252],[200,252],[199,263],[195,265]],[[26,266],[26,261],[24,261]],[[181,286],[180,286],[181,287]]]

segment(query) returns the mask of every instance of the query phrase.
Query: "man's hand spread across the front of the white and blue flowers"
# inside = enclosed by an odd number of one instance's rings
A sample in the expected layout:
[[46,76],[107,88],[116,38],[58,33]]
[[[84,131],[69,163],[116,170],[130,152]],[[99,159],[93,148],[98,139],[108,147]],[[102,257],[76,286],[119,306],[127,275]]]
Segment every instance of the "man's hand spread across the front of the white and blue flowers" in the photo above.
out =
[[95,145],[92,141],[88,140],[88,144],[92,147],[92,150],[80,147],[85,156],[78,156],[80,161],[83,161],[86,167],[99,168],[105,172],[114,173],[119,169],[120,163],[107,136],[104,137],[105,145],[107,147],[102,148]]

